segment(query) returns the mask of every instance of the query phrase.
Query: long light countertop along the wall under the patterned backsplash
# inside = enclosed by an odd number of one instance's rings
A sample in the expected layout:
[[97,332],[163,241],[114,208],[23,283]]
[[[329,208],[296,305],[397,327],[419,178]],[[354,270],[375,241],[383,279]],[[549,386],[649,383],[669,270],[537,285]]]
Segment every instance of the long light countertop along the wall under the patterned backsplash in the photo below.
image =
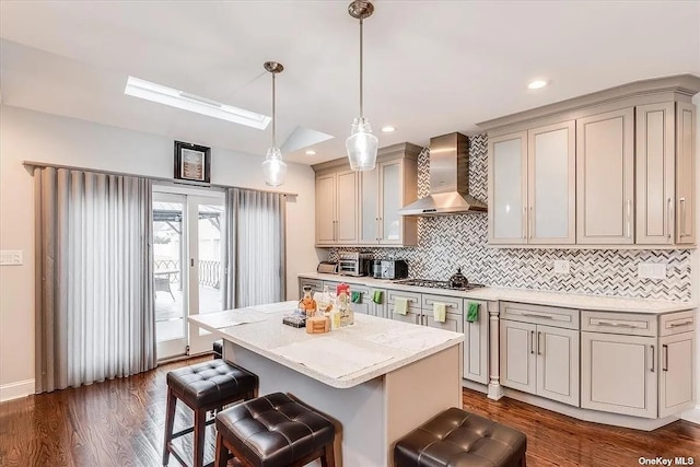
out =
[[529,303],[534,305],[560,306],[563,308],[591,310],[618,313],[665,314],[692,310],[697,304],[692,302],[672,302],[646,299],[628,299],[620,296],[585,295],[570,292],[545,292],[537,290],[510,289],[501,287],[485,287],[470,291],[431,289],[395,283],[388,280],[369,277],[351,277],[339,275],[323,275],[308,272],[299,275],[300,278],[318,279],[332,282],[362,284],[384,290],[402,290],[407,292],[430,293],[434,295],[463,296],[465,299],[483,301],[504,301]]

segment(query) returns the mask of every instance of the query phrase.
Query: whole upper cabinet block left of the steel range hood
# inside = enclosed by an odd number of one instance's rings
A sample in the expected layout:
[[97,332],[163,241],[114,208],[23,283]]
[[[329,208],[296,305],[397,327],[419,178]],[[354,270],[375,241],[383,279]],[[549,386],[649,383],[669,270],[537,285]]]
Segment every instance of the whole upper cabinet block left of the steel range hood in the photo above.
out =
[[316,245],[417,245],[417,219],[398,210],[418,198],[421,150],[410,143],[382,148],[374,171],[352,172],[347,159],[314,165]]

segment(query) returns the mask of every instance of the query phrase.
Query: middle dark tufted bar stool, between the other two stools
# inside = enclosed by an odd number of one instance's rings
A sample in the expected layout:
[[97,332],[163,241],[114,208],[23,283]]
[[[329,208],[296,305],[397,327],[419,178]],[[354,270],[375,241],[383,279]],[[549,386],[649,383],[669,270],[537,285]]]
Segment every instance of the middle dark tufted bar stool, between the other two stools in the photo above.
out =
[[233,454],[245,467],[299,467],[320,459],[335,467],[330,420],[282,393],[217,413],[215,467]]

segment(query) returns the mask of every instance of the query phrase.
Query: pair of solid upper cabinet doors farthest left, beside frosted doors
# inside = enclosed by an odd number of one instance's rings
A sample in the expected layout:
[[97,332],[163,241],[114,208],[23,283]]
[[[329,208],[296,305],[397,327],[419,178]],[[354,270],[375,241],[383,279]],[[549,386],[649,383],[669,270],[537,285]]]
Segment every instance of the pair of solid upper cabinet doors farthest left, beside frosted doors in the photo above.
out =
[[358,243],[358,175],[337,171],[316,175],[316,244]]

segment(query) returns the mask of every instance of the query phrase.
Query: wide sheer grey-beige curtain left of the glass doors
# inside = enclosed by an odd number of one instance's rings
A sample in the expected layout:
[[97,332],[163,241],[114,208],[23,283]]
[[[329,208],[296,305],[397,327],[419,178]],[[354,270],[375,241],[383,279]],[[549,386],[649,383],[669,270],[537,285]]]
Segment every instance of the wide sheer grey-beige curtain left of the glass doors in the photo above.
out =
[[155,366],[151,182],[36,168],[36,392]]

